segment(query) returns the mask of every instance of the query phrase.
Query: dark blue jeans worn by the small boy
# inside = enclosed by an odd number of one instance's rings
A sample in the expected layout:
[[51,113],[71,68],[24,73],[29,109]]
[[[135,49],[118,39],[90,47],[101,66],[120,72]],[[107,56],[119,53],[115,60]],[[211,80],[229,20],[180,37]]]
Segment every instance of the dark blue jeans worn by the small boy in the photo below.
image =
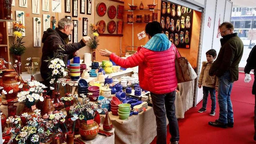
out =
[[203,108],[206,109],[207,99],[208,95],[211,95],[211,110],[216,109],[216,96],[215,96],[215,88],[209,88],[206,86],[203,86]]

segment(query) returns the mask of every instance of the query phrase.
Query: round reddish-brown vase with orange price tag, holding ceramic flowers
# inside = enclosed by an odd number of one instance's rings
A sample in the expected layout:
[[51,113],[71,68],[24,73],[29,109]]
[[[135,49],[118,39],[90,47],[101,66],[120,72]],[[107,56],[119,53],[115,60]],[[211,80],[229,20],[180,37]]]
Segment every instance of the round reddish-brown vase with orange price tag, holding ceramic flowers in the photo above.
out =
[[83,140],[90,141],[96,138],[99,132],[99,125],[97,122],[93,121],[92,124],[87,125],[85,120],[82,120],[79,133]]

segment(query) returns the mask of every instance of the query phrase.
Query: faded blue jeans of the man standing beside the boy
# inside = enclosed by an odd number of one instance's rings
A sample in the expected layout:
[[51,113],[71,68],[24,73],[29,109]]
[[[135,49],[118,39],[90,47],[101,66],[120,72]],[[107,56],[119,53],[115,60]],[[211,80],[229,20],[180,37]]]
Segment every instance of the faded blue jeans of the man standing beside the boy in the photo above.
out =
[[225,72],[218,77],[218,102],[220,106],[219,121],[222,123],[234,122],[233,108],[230,93],[233,83],[231,82],[230,72]]

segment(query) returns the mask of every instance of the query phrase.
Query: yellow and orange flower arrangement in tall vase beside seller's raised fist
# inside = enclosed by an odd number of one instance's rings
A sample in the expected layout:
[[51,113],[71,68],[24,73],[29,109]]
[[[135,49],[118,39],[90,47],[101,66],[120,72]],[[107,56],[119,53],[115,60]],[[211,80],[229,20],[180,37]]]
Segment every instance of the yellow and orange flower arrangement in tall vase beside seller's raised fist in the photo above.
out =
[[91,24],[90,29],[91,29],[91,34],[93,35],[93,38],[90,39],[90,41],[88,42],[88,47],[90,47],[93,51],[93,62],[96,62],[96,54],[95,54],[95,49],[97,49],[97,47],[99,46],[99,33],[97,33],[97,29],[99,26],[95,25],[95,24]]

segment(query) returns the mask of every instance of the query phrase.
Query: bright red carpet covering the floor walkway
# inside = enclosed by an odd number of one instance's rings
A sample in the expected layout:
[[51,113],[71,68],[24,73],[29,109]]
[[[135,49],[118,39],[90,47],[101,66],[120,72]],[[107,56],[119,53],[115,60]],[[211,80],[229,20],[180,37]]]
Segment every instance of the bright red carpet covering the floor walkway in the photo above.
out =
[[[253,75],[252,75],[253,77]],[[202,101],[186,111],[185,118],[179,119],[180,144],[250,144],[254,135],[254,95],[251,94],[253,80],[243,82],[244,74],[239,73],[239,81],[232,88],[231,99],[234,111],[233,128],[217,128],[208,125],[209,121],[218,119],[219,106],[217,102],[216,115],[210,116],[211,100],[207,103],[207,111],[198,113]],[[217,94],[216,94],[217,95]],[[208,98],[209,99],[209,98]],[[167,143],[170,143],[170,133],[167,130]],[[156,138],[151,144],[156,143]]]

